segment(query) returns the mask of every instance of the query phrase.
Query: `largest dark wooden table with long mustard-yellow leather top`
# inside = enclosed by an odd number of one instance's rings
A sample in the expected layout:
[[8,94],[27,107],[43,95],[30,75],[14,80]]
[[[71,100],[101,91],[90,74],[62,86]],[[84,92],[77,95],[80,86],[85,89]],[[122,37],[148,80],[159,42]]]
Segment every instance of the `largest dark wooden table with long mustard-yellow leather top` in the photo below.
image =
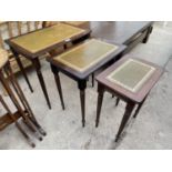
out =
[[20,54],[32,62],[50,109],[51,104],[41,72],[39,57],[57,49],[58,47],[65,45],[73,40],[89,37],[89,34],[90,30],[83,30],[64,23],[58,23],[55,26],[43,28],[6,41],[10,45],[11,51],[13,52],[27,81],[29,80],[20,61]]

